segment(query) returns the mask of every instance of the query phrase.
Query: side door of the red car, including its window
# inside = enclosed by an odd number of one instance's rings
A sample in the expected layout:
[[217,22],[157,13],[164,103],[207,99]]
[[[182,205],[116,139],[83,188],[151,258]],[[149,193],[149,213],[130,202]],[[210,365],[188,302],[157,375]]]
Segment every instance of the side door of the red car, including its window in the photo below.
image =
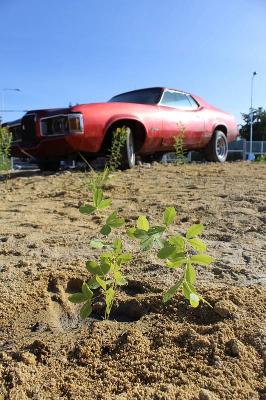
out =
[[163,147],[173,148],[173,136],[185,127],[184,142],[188,149],[200,146],[205,133],[202,107],[189,94],[165,89],[160,101],[163,122]]

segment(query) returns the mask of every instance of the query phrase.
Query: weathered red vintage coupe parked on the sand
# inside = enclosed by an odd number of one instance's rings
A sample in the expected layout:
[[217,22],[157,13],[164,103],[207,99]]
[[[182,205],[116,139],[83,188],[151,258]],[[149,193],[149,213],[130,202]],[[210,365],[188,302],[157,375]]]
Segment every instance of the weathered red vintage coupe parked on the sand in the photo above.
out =
[[112,131],[130,131],[122,151],[122,166],[161,160],[174,150],[173,136],[185,127],[188,150],[203,150],[208,161],[224,162],[228,142],[238,134],[235,117],[194,94],[152,87],[118,94],[108,102],[69,108],[28,111],[21,120],[6,123],[13,133],[11,155],[36,157],[41,170],[58,170],[60,160],[91,160],[110,148]]

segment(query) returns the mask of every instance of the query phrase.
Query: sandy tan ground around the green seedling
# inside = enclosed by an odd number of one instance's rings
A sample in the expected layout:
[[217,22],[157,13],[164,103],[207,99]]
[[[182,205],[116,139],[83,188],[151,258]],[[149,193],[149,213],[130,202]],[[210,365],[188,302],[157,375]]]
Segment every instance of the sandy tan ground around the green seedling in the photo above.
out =
[[161,223],[169,205],[177,232],[204,224],[215,261],[197,266],[196,287],[214,308],[181,290],[162,304],[182,271],[137,251],[106,322],[82,321],[67,300],[100,253],[98,218],[78,211],[91,196],[73,190],[80,175],[0,182],[0,398],[266,400],[266,165],[154,163],[113,180],[104,195],[126,227],[140,214]]

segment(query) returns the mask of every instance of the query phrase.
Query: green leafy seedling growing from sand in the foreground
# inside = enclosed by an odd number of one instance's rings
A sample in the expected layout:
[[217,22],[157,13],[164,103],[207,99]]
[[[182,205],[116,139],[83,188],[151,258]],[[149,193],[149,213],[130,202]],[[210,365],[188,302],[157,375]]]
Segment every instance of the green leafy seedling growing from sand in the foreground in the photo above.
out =
[[[117,286],[127,283],[129,275],[124,275],[126,263],[132,259],[133,251],[139,247],[140,251],[151,250],[154,245],[159,249],[158,258],[166,261],[168,268],[180,268],[183,265],[183,277],[179,279],[163,296],[162,301],[167,302],[176,293],[178,288],[182,286],[184,296],[189,299],[193,307],[199,305],[199,301],[208,303],[200,294],[197,293],[194,286],[196,273],[193,264],[209,265],[213,258],[206,254],[191,254],[191,249],[198,252],[205,252],[206,245],[197,237],[203,229],[202,224],[192,225],[186,233],[186,237],[177,234],[169,228],[176,216],[176,210],[173,206],[166,208],[163,214],[163,226],[150,226],[148,219],[144,215],[140,215],[137,219],[136,227],[126,229],[126,234],[135,240],[135,245],[130,252],[122,252],[123,243],[120,238],[116,238],[112,243],[106,241],[106,237],[110,234],[112,228],[119,228],[123,225],[124,219],[118,218],[117,211],[113,211],[104,221],[101,210],[107,208],[111,204],[111,198],[103,200],[103,192],[97,189],[93,194],[93,205],[85,204],[79,207],[82,214],[88,215],[96,212],[101,221],[100,233],[104,239],[93,239],[90,246],[94,248],[105,247],[108,251],[103,252],[99,261],[88,260],[86,268],[92,275],[91,278],[82,284],[82,293],[70,294],[69,301],[73,303],[85,304],[80,309],[80,316],[85,319],[92,312],[92,303],[100,296],[105,296],[105,319],[109,318],[109,314],[115,299]],[[163,238],[163,233],[170,236]],[[94,293],[93,290],[100,290]],[[211,306],[211,305],[210,305]]]

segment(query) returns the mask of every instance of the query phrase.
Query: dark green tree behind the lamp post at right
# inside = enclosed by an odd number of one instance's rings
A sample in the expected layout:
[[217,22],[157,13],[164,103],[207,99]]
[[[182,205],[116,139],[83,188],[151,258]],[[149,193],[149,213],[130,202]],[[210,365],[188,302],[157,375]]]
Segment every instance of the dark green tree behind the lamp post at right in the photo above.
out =
[[[241,115],[246,123],[244,125],[241,124],[239,129],[240,136],[243,139],[250,140],[251,115],[244,112]],[[253,140],[266,140],[266,109],[263,107],[253,108],[252,131]]]

